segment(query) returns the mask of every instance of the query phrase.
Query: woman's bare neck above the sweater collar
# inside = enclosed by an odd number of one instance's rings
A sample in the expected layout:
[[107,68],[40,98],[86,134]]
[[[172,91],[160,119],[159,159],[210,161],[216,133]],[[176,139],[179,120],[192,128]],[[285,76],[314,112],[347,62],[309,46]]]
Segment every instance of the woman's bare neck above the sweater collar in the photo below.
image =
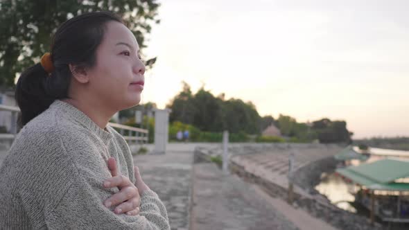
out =
[[110,118],[114,116],[115,112],[111,111],[101,105],[98,101],[77,100],[75,98],[67,98],[62,100],[69,103],[91,118],[98,127],[105,130]]

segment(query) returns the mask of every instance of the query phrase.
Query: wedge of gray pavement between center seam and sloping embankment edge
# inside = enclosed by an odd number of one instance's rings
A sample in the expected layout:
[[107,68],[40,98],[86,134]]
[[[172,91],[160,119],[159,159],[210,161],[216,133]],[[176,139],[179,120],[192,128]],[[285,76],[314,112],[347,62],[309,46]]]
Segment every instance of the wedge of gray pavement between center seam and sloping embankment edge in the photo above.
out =
[[297,229],[251,184],[223,175],[214,163],[193,166],[193,230]]

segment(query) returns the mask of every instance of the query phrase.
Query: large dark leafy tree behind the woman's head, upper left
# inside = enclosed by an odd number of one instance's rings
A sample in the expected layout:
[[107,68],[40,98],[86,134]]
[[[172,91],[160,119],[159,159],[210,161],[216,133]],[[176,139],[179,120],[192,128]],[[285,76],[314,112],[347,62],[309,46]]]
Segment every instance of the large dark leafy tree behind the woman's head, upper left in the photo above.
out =
[[[40,61],[51,35],[67,19],[83,12],[110,10],[120,15],[141,49],[152,24],[159,23],[156,0],[3,0],[0,3],[0,86],[14,87],[16,73]],[[156,60],[146,61],[152,67]]]

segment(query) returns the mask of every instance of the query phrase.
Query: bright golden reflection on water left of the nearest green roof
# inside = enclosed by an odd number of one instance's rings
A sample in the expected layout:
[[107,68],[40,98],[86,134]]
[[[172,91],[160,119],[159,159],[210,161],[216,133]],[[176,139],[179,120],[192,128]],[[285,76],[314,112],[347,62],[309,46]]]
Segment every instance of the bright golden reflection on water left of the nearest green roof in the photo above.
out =
[[356,213],[356,209],[350,204],[350,202],[355,201],[355,197],[349,193],[349,186],[341,177],[334,173],[330,175],[323,173],[322,180],[320,184],[315,186],[315,189],[322,195],[327,196],[328,200],[340,209]]

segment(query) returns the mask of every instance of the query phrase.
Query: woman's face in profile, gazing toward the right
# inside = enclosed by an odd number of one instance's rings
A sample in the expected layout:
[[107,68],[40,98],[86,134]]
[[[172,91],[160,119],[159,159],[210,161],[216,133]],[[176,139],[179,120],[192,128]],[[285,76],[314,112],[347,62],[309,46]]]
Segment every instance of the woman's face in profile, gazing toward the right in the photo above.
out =
[[126,109],[140,102],[144,73],[137,39],[123,24],[108,22],[96,50],[96,66],[87,70],[89,90],[104,105]]

